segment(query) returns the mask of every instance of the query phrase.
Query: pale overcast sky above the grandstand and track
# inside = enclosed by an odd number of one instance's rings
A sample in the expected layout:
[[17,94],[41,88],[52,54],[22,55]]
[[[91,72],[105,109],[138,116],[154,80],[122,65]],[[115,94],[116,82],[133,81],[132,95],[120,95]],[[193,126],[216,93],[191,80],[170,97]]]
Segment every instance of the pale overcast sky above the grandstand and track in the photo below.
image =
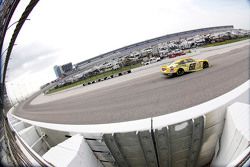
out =
[[[28,3],[20,2],[10,24]],[[16,85],[32,85],[32,91],[55,79],[54,65],[77,63],[165,34],[221,25],[250,29],[249,8],[246,0],[39,1],[17,38],[7,88],[19,96]]]

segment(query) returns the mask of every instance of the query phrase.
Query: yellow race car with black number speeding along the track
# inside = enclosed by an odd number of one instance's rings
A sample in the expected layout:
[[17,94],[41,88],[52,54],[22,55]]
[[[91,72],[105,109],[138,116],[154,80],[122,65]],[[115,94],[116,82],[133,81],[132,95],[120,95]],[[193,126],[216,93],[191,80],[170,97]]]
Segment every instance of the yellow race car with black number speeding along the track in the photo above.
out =
[[209,67],[208,60],[197,60],[193,58],[181,58],[169,65],[161,66],[161,72],[167,76],[181,76],[185,72],[199,71]]

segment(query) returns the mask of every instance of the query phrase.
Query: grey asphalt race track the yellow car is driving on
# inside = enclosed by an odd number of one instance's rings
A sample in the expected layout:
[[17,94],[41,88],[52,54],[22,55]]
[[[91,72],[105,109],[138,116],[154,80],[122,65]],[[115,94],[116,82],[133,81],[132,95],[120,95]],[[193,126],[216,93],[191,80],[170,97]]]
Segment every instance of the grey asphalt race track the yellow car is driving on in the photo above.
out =
[[66,124],[143,119],[206,102],[249,79],[249,45],[208,57],[208,60],[211,68],[181,77],[166,78],[157,71],[60,100],[36,105],[27,101],[16,109],[15,115]]

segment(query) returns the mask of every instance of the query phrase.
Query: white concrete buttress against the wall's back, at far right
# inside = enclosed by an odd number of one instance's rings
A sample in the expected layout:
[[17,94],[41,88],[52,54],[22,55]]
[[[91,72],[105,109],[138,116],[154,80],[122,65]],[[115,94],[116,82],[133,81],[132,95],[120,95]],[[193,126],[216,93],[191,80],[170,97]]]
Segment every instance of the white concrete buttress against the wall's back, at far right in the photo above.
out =
[[[234,103],[228,107],[222,137],[212,166],[227,166],[250,148],[250,105]],[[231,166],[231,165],[230,165]]]

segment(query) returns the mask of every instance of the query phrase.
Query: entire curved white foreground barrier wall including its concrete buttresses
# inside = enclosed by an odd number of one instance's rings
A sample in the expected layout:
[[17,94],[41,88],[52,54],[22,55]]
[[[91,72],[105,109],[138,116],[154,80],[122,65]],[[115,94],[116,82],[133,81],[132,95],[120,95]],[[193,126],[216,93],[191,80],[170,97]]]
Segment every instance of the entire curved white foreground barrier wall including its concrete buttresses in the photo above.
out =
[[249,96],[248,80],[200,105],[137,121],[50,124],[17,117],[15,108],[8,118],[27,148],[54,166],[204,166],[212,160],[212,166],[231,166],[249,153]]

